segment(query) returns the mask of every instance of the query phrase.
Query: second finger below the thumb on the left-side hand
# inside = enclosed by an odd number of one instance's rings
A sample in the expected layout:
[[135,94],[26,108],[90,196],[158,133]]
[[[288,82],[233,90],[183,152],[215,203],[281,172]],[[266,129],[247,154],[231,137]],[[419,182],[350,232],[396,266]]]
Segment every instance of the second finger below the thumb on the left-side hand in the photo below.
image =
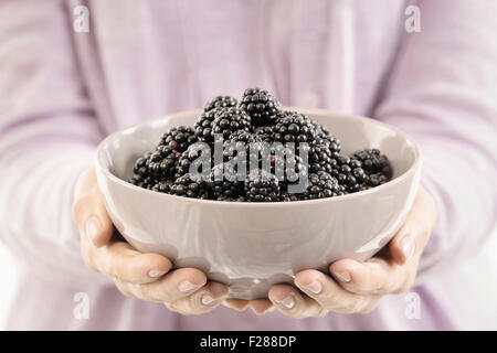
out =
[[201,270],[179,268],[155,282],[134,285],[130,290],[139,299],[170,303],[191,296],[205,284],[207,277]]

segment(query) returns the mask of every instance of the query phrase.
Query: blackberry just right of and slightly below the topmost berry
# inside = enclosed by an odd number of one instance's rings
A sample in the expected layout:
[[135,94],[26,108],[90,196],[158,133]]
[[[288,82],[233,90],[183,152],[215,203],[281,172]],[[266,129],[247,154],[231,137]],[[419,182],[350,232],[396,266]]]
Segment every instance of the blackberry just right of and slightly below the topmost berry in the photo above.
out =
[[313,121],[299,113],[279,115],[273,131],[273,138],[278,142],[311,142],[316,138]]

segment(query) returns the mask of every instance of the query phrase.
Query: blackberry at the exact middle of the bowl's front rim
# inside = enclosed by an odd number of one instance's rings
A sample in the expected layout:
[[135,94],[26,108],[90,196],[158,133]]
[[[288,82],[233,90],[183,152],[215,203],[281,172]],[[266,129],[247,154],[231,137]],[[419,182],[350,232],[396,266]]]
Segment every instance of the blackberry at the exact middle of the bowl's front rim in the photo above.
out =
[[255,176],[247,175],[245,197],[250,202],[279,201],[281,188],[277,178],[265,171],[260,171]]

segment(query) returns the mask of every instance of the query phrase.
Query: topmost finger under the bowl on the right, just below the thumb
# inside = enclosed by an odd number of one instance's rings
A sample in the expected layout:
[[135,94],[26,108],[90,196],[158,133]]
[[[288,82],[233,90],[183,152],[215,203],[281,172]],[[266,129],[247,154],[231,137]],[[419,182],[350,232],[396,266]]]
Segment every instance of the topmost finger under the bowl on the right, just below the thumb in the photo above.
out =
[[329,270],[337,282],[351,293],[381,296],[396,292],[412,266],[400,266],[393,260],[373,257],[364,263],[338,260],[330,265]]

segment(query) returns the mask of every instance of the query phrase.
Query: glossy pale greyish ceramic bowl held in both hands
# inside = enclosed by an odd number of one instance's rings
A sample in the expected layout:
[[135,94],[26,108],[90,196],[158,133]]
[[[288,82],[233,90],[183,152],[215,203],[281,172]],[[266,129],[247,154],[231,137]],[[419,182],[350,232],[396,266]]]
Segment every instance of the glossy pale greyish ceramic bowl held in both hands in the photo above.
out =
[[96,152],[96,174],[120,234],[141,252],[176,267],[197,267],[226,284],[232,298],[265,298],[307,268],[327,271],[340,258],[364,260],[382,248],[410,210],[420,180],[421,151],[405,133],[382,122],[295,108],[326,125],[350,153],[379,148],[393,180],[359,193],[287,203],[193,200],[128,182],[133,164],[173,126],[193,125],[200,110],[146,121],[107,137]]

